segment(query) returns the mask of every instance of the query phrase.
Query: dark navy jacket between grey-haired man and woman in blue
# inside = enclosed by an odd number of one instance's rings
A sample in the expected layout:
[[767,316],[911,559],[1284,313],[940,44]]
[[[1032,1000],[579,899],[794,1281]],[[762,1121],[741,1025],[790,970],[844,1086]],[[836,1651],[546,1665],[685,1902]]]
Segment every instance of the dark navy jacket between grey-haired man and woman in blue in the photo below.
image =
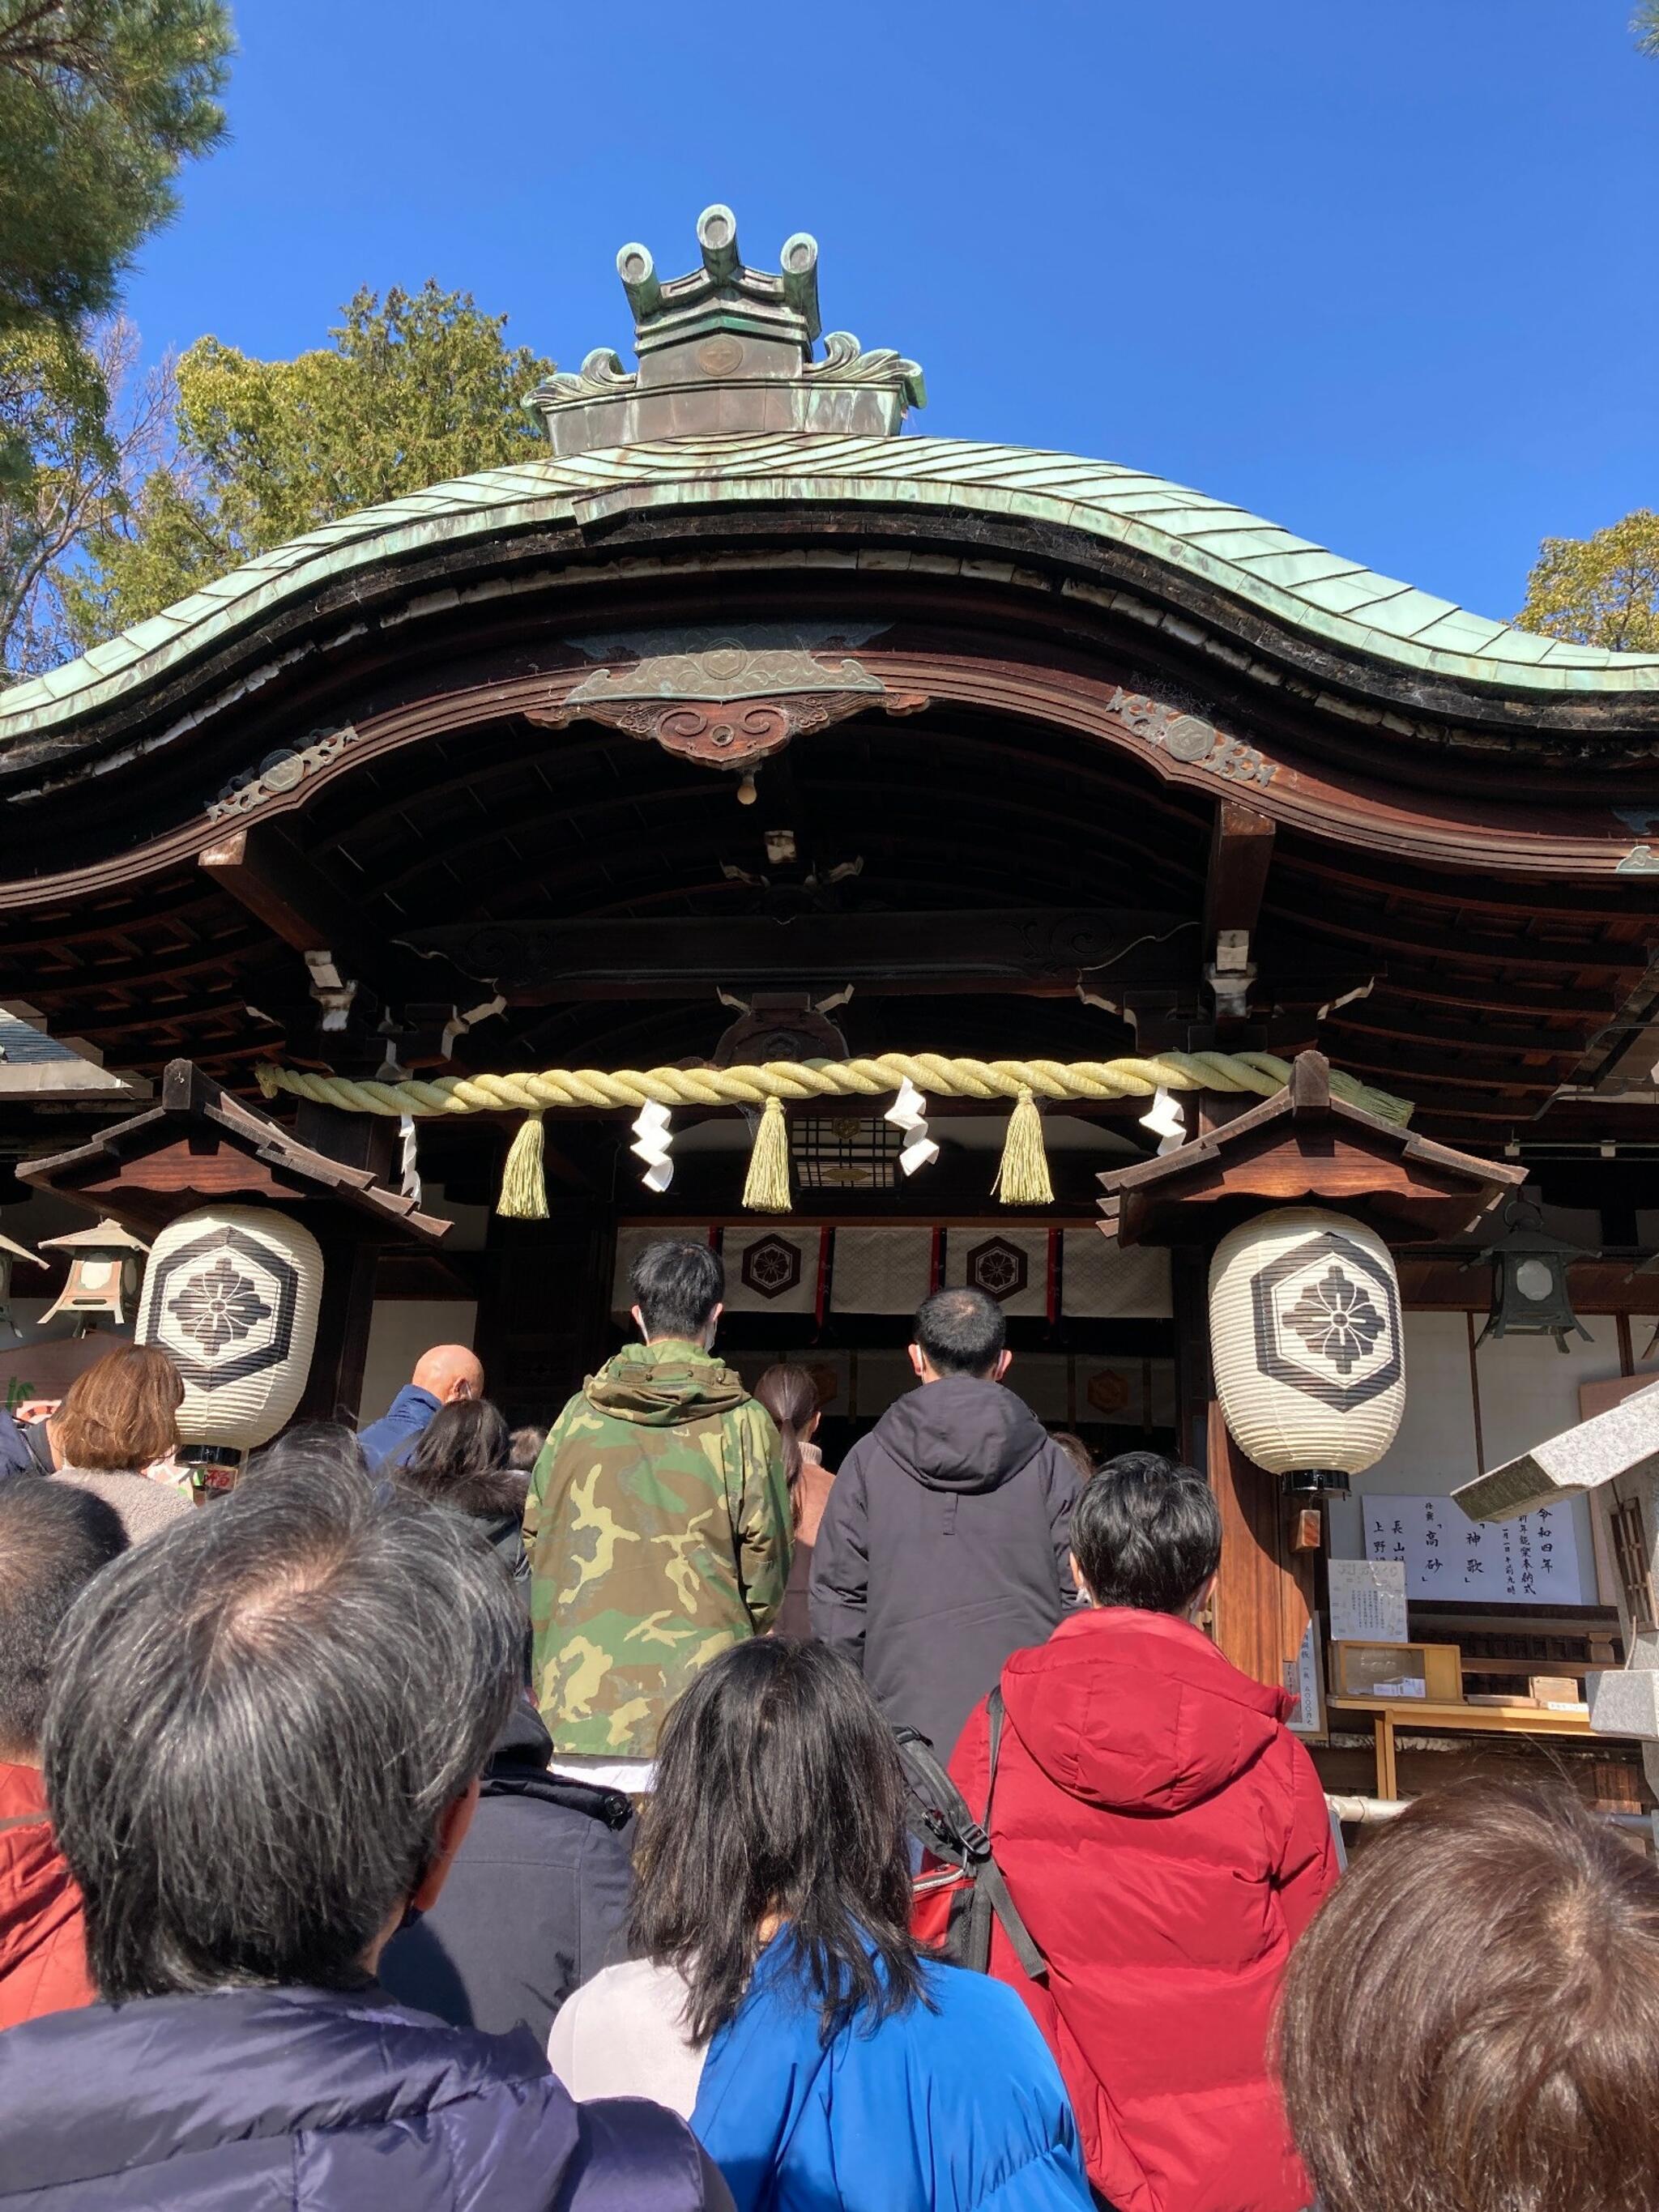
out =
[[380,1953],[380,1984],[458,2028],[546,2044],[553,2017],[624,1958],[633,1871],[622,1790],[549,1774],[553,1739],[529,1699],[507,1717],[442,1896]]

